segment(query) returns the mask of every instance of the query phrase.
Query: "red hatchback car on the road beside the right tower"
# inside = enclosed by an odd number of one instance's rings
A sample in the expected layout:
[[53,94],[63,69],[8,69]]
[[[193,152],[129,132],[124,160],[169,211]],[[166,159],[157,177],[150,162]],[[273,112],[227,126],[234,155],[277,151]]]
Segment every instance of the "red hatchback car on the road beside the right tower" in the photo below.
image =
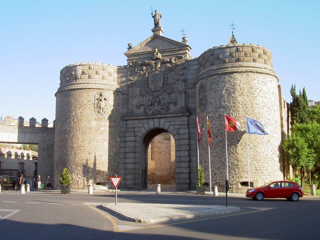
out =
[[245,192],[246,197],[252,197],[261,201],[263,198],[283,197],[287,200],[298,201],[303,197],[303,191],[298,183],[290,181],[268,182],[261,187],[249,188]]

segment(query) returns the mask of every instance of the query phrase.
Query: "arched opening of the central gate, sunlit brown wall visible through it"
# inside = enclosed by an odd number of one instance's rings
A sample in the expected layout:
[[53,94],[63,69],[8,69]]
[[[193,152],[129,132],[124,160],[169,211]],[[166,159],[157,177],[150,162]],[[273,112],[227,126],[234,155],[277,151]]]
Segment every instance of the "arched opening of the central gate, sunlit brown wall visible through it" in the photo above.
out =
[[141,188],[148,184],[175,184],[175,141],[164,129],[153,129],[141,146]]

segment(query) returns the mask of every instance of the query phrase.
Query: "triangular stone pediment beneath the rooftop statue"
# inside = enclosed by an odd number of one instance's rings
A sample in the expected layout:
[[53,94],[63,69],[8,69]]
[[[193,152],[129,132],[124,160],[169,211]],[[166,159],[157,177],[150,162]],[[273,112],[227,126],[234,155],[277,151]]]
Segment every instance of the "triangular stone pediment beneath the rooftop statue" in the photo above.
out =
[[183,55],[185,58],[188,58],[189,51],[191,50],[188,44],[154,34],[140,44],[129,49],[124,55],[127,56],[128,61],[146,60],[150,59],[151,55],[155,52],[156,47],[163,58],[170,58],[176,55]]

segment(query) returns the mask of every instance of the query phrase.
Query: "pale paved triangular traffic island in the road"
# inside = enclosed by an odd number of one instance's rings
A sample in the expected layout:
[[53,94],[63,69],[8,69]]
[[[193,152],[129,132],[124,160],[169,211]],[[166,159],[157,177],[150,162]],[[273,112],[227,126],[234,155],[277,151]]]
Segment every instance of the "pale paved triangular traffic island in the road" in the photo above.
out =
[[160,223],[173,220],[209,217],[232,212],[239,212],[239,207],[220,205],[181,205],[181,204],[146,204],[117,203],[103,204],[102,207],[116,213],[125,220],[141,223]]

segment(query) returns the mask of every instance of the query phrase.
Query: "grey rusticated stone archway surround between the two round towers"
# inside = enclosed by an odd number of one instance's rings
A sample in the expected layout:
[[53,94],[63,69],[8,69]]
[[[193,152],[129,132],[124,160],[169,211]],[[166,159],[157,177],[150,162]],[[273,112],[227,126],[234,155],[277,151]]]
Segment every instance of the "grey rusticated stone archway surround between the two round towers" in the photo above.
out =
[[128,116],[120,134],[120,176],[123,189],[147,189],[148,147],[157,135],[168,132],[175,142],[176,189],[195,185],[196,152],[190,149],[189,113]]

